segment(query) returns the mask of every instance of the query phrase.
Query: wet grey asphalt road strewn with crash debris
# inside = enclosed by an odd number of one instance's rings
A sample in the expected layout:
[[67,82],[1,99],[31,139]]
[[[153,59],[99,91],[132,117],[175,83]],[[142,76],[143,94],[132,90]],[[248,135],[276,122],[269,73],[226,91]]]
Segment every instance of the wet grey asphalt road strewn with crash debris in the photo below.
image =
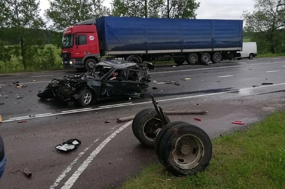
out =
[[[201,127],[211,138],[240,130],[284,109],[283,65],[285,58],[157,67],[151,72],[152,81],[157,83],[151,82],[142,98],[102,101],[87,109],[37,98],[38,91],[50,80],[66,72],[0,77],[0,103],[4,103],[0,105],[0,134],[7,156],[1,188],[119,187],[143,167],[158,161],[153,149],[144,147],[133,136],[131,122],[117,123],[118,117],[152,107],[152,93],[164,110],[208,110],[204,115],[169,117],[172,121],[182,117],[182,121]],[[180,86],[163,83],[174,80],[180,81]],[[12,84],[16,81],[27,87],[16,88]],[[154,86],[158,89],[153,90]],[[23,98],[16,99],[19,97]],[[235,120],[247,126],[231,124]],[[56,145],[70,138],[81,140],[78,149],[67,154],[56,151]],[[31,178],[25,177],[24,168],[31,170]]]

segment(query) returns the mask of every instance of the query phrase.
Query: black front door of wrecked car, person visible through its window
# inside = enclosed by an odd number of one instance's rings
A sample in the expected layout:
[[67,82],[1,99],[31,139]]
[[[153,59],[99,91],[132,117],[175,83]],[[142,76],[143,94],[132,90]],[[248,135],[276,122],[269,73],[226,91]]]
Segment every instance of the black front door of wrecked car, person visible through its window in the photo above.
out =
[[[118,72],[120,73],[120,76],[123,77],[122,81],[118,80],[110,80],[110,78],[113,77],[113,73]],[[127,93],[127,81],[126,81],[126,69],[115,69],[113,72],[111,72],[107,77],[107,96],[108,97],[119,97],[123,96]]]

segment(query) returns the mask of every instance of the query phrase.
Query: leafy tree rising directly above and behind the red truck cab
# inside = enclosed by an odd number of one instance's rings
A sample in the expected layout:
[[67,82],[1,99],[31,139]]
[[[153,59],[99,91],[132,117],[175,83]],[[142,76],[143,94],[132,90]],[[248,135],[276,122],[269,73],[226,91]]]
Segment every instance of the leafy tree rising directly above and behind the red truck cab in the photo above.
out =
[[98,18],[110,14],[101,0],[49,0],[50,7],[45,10],[48,20],[53,22],[51,28],[62,32],[77,22]]

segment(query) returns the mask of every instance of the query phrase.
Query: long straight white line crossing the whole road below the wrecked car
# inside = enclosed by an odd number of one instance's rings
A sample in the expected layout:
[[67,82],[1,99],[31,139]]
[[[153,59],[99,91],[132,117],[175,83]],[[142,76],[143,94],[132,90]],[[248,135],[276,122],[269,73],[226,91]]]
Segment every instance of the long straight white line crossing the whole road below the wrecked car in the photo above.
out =
[[[285,83],[278,83],[278,84],[273,84],[273,85],[264,85],[264,86],[254,87],[254,88],[250,87],[250,88],[236,89],[236,90],[224,91],[224,92],[219,92],[219,93],[208,93],[208,94],[195,95],[195,96],[184,96],[184,97],[178,97],[178,98],[168,98],[168,99],[163,99],[163,100],[157,100],[157,102],[171,101],[171,100],[180,100],[180,99],[186,99],[186,98],[195,98],[195,97],[200,97],[200,96],[209,96],[209,95],[216,95],[216,94],[222,94],[222,93],[232,93],[232,92],[235,92],[235,91],[254,90],[254,89],[257,89],[257,88],[272,87],[272,86],[278,86],[278,85],[285,85]],[[148,103],[152,103],[152,101],[138,102],[138,103],[133,103],[133,104],[123,104],[123,105],[118,105],[118,106],[108,106],[108,107],[102,107],[102,108],[92,108],[92,109],[85,109],[85,110],[72,111],[72,112],[62,112],[62,113],[57,113],[57,114],[49,113],[49,114],[45,114],[45,115],[41,115],[41,116],[35,116],[35,117],[25,117],[25,118],[3,120],[2,123],[4,123],[4,122],[11,122],[11,121],[17,121],[17,120],[23,120],[23,119],[34,119],[34,118],[39,118],[39,117],[56,116],[56,115],[71,114],[71,113],[77,113],[77,112],[87,112],[87,111],[93,111],[93,110],[109,109],[109,108],[124,107],[124,106],[133,106],[133,105],[148,104]]]

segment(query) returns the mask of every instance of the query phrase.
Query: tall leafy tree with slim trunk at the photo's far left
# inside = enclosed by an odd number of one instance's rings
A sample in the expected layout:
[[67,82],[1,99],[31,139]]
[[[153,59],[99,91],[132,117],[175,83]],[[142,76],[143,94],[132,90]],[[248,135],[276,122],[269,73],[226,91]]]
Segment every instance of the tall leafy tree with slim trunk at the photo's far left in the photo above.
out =
[[27,53],[30,47],[43,46],[43,39],[38,37],[37,31],[45,27],[45,22],[39,16],[39,1],[5,0],[3,3],[6,10],[4,26],[9,28],[10,36],[19,40],[20,56],[24,70],[26,70]]

